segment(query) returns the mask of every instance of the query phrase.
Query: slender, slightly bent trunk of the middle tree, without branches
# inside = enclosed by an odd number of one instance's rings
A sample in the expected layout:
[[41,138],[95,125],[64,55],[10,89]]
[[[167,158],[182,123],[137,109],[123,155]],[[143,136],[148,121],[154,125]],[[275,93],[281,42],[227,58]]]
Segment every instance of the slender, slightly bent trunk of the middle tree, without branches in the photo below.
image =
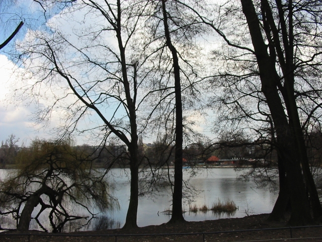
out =
[[182,143],[183,143],[183,125],[182,125],[182,100],[181,100],[181,80],[178,52],[171,42],[171,36],[168,25],[168,16],[166,9],[166,0],[162,0],[163,21],[165,27],[165,36],[167,46],[171,51],[173,58],[173,68],[175,76],[175,95],[176,95],[176,149],[175,149],[175,186],[172,197],[172,216],[169,223],[184,222],[182,215]]

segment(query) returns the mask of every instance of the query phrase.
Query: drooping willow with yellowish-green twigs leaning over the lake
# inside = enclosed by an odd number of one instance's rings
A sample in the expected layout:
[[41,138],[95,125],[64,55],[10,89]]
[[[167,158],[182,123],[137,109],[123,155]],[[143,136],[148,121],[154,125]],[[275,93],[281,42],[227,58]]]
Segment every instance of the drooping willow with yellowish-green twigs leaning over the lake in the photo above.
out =
[[105,172],[92,169],[87,152],[73,149],[67,141],[34,141],[17,156],[18,168],[0,185],[1,214],[12,214],[17,229],[28,230],[31,215],[40,206],[34,219],[49,211],[54,232],[65,223],[85,218],[73,214],[72,204],[81,206],[92,216],[91,203],[100,210],[113,207]]

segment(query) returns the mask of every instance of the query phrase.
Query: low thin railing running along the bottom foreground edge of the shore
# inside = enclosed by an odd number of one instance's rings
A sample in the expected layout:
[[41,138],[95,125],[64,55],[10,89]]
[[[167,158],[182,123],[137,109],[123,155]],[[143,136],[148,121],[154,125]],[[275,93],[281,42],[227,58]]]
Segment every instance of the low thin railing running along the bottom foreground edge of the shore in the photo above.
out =
[[[218,233],[240,233],[240,232],[253,232],[253,231],[267,231],[267,230],[288,230],[290,231],[290,238],[293,238],[292,229],[299,228],[315,228],[322,227],[322,225],[311,225],[311,226],[296,226],[296,227],[277,227],[277,228],[258,228],[258,229],[241,229],[241,230],[226,230],[226,231],[214,231],[214,232],[197,232],[197,233],[147,233],[147,234],[70,234],[70,233],[0,233],[0,238],[2,236],[28,236],[28,242],[30,242],[31,236],[61,236],[61,237],[115,237],[115,242],[117,242],[118,237],[129,237],[129,236],[183,236],[183,235],[202,235],[202,241],[205,242],[205,235],[218,234]],[[286,238],[283,238],[286,239]],[[301,237],[305,239],[305,237]],[[274,239],[270,239],[274,240]]]

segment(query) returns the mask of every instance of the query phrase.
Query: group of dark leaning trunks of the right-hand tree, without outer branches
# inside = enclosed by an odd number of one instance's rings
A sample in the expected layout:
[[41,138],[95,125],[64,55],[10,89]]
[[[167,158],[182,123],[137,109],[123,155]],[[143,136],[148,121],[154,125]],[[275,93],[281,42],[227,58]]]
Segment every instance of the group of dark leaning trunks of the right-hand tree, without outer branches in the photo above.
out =
[[[279,145],[279,153],[283,159],[283,165],[286,169],[292,206],[292,217],[290,222],[295,224],[301,223],[301,220],[304,220],[304,223],[309,222],[309,211],[305,209],[308,206],[306,205],[307,201],[305,200],[304,186],[301,183],[302,176],[300,164],[302,165],[304,178],[311,197],[314,218],[320,217],[322,215],[322,210],[308,166],[303,131],[294,93],[297,57],[294,55],[294,48],[296,47],[294,46],[296,33],[294,32],[294,24],[297,24],[295,18],[297,17],[296,12],[298,10],[296,10],[296,6],[293,5],[292,1],[286,3],[286,8],[281,2],[276,1],[278,17],[281,23],[281,32],[278,33],[269,3],[266,1],[261,2],[262,14],[264,17],[264,30],[266,38],[269,41],[270,53],[268,53],[262,34],[259,32],[259,21],[256,21],[256,19],[254,20],[256,12],[253,3],[250,1],[241,1],[241,3],[243,5],[243,12],[247,18],[250,34],[253,40],[262,81],[262,91],[267,98],[267,103],[271,110],[276,129],[277,144]],[[294,20],[295,23],[293,23]],[[282,44],[279,42],[280,40],[282,40]],[[278,43],[279,45],[277,45]],[[284,48],[284,51],[282,51],[282,47]],[[280,76],[278,75],[276,67],[273,66],[276,63],[276,57],[278,58],[284,83],[280,82]],[[271,73],[264,70],[268,70],[268,66],[271,68],[271,70],[269,70]],[[278,90],[281,92],[285,102],[287,115],[284,112]],[[286,127],[287,129],[285,129]],[[294,143],[290,142],[291,140],[294,141]],[[298,180],[298,190],[294,191],[292,187],[294,187],[296,180]],[[298,198],[298,195],[303,197],[302,201],[300,201],[301,199]],[[297,201],[299,201],[299,203],[297,203]],[[294,209],[301,209],[301,207],[303,212],[293,211]]]

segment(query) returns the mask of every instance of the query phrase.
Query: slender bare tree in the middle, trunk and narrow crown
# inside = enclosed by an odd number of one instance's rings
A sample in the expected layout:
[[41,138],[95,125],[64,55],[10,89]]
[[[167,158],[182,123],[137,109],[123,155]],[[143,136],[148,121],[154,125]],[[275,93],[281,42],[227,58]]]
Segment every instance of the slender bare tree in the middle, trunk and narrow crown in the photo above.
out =
[[[196,88],[201,80],[199,69],[201,64],[197,64],[197,59],[200,57],[197,55],[200,52],[191,39],[196,40],[203,29],[176,1],[161,0],[154,1],[153,4],[154,13],[149,26],[154,33],[153,43],[157,46],[159,83],[165,87],[161,98],[157,99],[162,100],[158,107],[165,107],[160,112],[163,118],[158,119],[158,126],[165,126],[167,129],[167,125],[170,124],[167,133],[172,133],[174,141],[175,174],[172,217],[169,223],[176,223],[184,221],[183,139],[185,137],[188,140],[191,134],[195,135],[196,140],[200,138],[197,132],[192,132],[184,111],[192,111],[197,106],[195,104],[200,94]],[[157,94],[159,95],[159,92]]]

